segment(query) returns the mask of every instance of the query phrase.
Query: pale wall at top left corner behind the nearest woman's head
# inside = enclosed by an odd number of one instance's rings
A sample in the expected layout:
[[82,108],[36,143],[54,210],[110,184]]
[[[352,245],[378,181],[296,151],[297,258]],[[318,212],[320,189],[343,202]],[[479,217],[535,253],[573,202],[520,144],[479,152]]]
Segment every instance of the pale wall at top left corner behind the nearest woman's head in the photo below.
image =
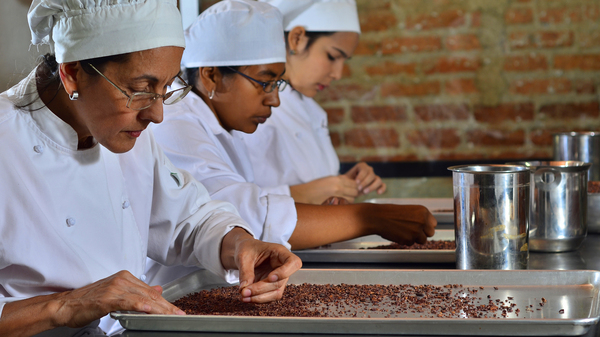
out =
[[0,0],[0,92],[19,82],[33,69],[47,46],[31,46],[27,10],[31,0]]

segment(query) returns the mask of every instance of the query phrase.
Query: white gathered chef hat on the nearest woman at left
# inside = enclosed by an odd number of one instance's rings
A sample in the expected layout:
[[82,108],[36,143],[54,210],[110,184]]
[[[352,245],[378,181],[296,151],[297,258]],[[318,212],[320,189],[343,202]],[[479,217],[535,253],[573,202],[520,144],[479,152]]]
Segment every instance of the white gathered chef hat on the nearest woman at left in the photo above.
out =
[[33,0],[27,19],[58,63],[185,47],[176,0]]

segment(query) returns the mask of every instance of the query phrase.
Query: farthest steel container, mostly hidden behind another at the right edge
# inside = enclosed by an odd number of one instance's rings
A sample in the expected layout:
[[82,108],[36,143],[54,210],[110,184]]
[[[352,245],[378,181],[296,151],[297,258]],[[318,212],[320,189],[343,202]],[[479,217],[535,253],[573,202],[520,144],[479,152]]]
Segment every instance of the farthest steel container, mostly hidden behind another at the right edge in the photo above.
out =
[[553,135],[554,160],[592,164],[588,180],[600,180],[600,133],[562,132]]

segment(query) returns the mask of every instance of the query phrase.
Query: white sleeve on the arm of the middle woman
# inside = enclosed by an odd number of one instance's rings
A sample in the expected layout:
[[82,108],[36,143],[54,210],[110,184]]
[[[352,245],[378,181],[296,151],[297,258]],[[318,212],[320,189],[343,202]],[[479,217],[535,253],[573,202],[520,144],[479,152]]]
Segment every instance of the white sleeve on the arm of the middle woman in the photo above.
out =
[[155,135],[172,162],[198,179],[211,198],[233,204],[258,239],[290,248],[288,240],[297,221],[291,197],[269,194],[247,182],[232,167],[228,152],[199,124],[170,120]]

